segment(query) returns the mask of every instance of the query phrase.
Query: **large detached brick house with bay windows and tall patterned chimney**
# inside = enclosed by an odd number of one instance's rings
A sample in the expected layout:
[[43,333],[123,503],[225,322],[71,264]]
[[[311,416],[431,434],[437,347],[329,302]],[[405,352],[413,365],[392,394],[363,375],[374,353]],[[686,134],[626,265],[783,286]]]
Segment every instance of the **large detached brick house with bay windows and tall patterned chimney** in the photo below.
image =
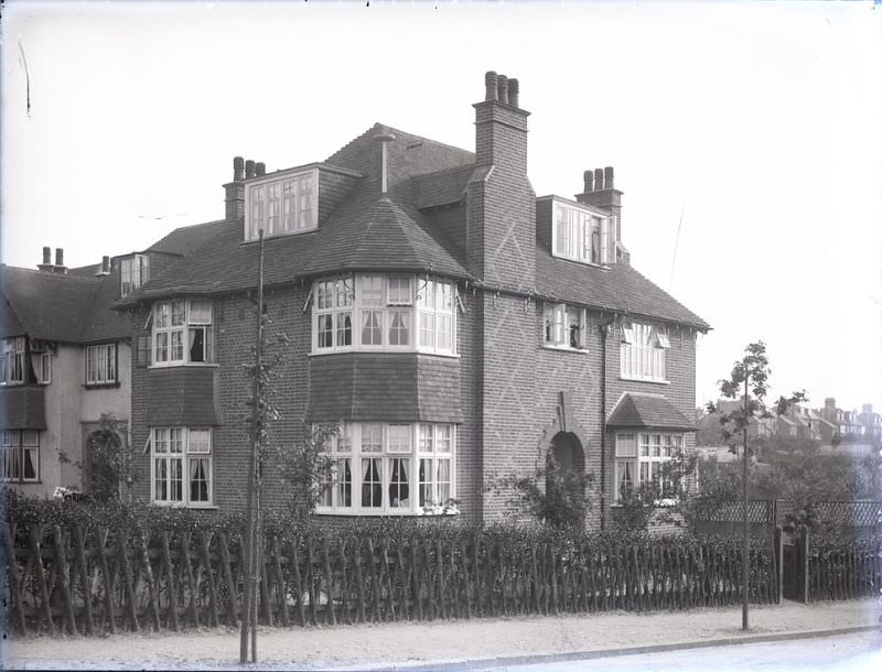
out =
[[259,230],[267,347],[284,356],[270,438],[342,427],[320,514],[455,498],[462,516],[497,519],[508,498],[485,485],[550,452],[593,476],[598,524],[620,488],[692,446],[708,325],[632,267],[611,167],[574,198],[536,197],[518,83],[487,73],[485,86],[474,152],[375,124],[323,162],[234,160],[225,219],[119,304],[138,346],[143,498],[244,508]]

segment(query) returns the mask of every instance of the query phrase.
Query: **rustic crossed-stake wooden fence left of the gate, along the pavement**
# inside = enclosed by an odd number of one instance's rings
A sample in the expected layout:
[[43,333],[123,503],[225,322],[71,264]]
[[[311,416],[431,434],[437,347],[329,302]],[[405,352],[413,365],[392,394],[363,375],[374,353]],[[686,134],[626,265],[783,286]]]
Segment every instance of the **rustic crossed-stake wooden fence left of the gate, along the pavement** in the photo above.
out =
[[[270,626],[343,625],[686,609],[741,598],[741,553],[732,540],[601,544],[591,536],[513,541],[487,529],[450,530],[267,534],[259,618]],[[12,523],[2,536],[3,554],[14,559],[7,590],[18,632],[176,631],[241,617],[237,533]],[[751,567],[751,599],[777,601],[773,549],[755,546]]]

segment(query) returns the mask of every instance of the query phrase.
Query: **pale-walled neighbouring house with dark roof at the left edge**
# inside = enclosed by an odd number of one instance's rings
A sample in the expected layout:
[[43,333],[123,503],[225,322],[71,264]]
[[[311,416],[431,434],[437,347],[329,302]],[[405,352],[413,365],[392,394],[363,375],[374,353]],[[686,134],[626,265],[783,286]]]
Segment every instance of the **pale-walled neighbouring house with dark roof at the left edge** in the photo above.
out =
[[[86,445],[103,414],[127,423],[131,325],[111,310],[110,258],[67,269],[43,248],[39,270],[0,267],[2,478],[26,495],[83,489]],[[122,437],[125,440],[125,437]]]

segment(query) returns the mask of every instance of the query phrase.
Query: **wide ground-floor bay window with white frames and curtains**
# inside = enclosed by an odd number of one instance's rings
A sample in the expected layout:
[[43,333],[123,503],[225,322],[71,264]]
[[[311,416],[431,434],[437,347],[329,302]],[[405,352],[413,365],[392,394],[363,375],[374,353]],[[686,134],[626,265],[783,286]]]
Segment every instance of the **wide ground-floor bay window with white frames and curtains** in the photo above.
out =
[[344,423],[325,449],[320,513],[419,514],[454,496],[452,424]]

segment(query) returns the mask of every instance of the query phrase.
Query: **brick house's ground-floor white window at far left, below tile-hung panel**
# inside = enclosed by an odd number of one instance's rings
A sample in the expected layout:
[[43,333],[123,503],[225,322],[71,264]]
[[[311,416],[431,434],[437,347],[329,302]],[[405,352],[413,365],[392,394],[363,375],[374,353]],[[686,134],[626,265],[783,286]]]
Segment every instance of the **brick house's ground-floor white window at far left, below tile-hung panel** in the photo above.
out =
[[212,430],[150,430],[151,497],[154,503],[212,503]]

